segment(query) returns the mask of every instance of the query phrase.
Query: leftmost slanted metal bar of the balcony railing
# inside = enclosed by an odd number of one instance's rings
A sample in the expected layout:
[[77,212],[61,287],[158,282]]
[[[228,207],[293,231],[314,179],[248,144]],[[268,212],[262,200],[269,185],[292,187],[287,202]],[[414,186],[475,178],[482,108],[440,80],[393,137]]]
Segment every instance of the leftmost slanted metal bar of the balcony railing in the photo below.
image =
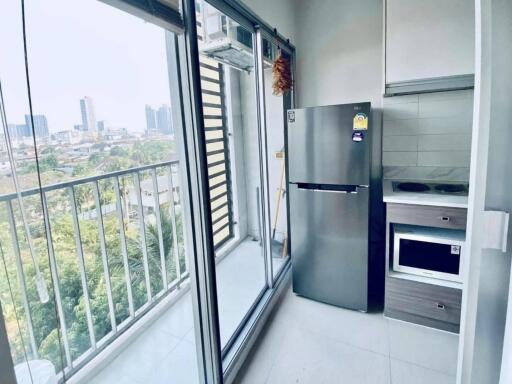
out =
[[14,218],[14,212],[12,210],[12,202],[7,201],[5,203],[7,206],[7,218],[9,221],[9,227],[11,229],[11,240],[12,240],[12,248],[14,250],[14,256],[16,260],[16,272],[18,273],[18,281],[20,284],[21,290],[21,299],[23,302],[23,309],[25,310],[25,315],[27,317],[27,329],[28,335],[30,339],[30,347],[32,349],[32,356],[34,359],[39,358],[39,353],[37,351],[36,338],[34,336],[34,325],[32,322],[32,312],[30,310],[30,305],[28,302],[27,296],[27,284],[25,281],[25,271],[23,268],[23,262],[21,261],[21,252],[20,245],[18,240],[18,233],[16,231],[16,220]]

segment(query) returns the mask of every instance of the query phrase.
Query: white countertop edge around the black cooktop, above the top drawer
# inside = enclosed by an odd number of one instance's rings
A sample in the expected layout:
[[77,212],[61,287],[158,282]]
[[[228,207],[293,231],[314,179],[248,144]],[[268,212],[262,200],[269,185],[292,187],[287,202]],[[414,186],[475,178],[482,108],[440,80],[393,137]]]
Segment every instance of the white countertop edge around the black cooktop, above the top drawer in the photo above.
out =
[[[419,192],[395,192],[392,182],[398,180],[384,179],[382,195],[385,203],[430,205],[436,207],[467,208],[468,197],[460,195],[443,195]],[[431,181],[429,181],[431,182]]]

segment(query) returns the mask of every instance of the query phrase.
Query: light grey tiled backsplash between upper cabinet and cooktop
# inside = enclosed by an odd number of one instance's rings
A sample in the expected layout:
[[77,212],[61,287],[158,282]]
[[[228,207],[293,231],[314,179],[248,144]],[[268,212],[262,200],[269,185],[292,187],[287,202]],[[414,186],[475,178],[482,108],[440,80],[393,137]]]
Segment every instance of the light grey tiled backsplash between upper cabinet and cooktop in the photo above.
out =
[[472,90],[384,98],[384,177],[467,181],[472,115]]

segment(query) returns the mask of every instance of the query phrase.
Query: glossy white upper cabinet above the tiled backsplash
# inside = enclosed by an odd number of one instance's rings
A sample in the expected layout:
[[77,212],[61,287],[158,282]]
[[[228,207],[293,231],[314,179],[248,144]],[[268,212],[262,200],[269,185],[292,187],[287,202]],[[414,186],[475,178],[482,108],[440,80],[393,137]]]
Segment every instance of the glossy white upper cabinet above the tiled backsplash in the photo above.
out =
[[474,0],[387,0],[386,83],[474,73]]

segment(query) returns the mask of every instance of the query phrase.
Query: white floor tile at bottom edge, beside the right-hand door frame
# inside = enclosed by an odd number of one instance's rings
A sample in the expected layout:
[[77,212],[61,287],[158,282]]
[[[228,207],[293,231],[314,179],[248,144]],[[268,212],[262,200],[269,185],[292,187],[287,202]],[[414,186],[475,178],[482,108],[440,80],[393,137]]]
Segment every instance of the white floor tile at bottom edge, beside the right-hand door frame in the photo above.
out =
[[391,359],[393,384],[455,384],[455,376]]

